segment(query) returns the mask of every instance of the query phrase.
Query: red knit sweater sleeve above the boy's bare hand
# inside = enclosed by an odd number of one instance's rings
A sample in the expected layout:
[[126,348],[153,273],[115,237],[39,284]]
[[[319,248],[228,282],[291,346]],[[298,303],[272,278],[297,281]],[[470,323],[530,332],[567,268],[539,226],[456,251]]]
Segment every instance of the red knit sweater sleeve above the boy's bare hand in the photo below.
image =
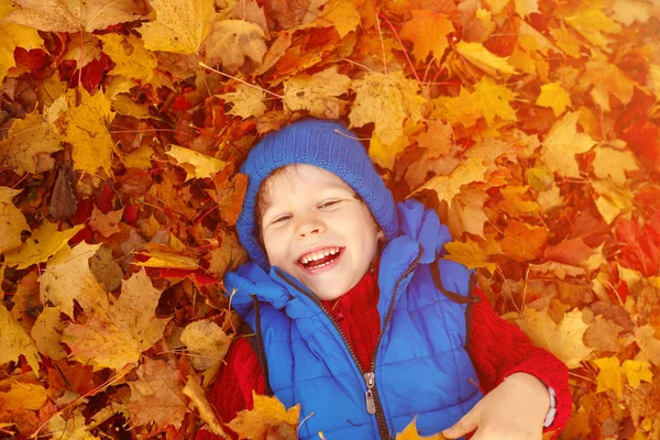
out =
[[475,293],[482,301],[473,306],[468,351],[484,392],[491,392],[514,373],[531,374],[557,395],[554,420],[543,432],[559,431],[572,410],[569,369],[552,353],[535,346],[517,326],[497,316],[481,289],[475,288]]

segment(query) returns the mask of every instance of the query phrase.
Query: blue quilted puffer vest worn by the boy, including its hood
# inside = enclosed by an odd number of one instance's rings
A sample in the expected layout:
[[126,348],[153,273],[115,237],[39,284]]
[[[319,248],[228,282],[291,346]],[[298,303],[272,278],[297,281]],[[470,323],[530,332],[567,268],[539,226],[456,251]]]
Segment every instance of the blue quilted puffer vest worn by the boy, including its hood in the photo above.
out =
[[[432,210],[397,204],[400,234],[381,256],[381,339],[363,371],[339,327],[302,284],[278,267],[248,263],[224,280],[232,307],[255,328],[260,302],[263,346],[275,396],[301,405],[300,439],[394,438],[417,417],[421,436],[449,428],[482,397],[465,345],[465,305],[441,294],[442,284],[469,294],[470,272],[439,260],[451,240]],[[234,290],[235,289],[235,290]]]

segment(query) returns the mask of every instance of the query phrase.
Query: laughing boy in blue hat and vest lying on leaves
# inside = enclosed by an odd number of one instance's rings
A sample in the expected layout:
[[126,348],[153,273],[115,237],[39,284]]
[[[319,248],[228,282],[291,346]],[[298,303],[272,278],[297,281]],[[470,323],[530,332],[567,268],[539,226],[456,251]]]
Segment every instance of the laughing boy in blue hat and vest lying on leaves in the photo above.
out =
[[448,228],[418,201],[395,205],[342,125],[294,123],[241,172],[237,230],[252,262],[224,284],[258,356],[245,338],[230,349],[211,395],[223,421],[254,388],[301,404],[302,439],[389,439],[414,417],[420,435],[449,438],[540,439],[543,426],[563,427],[565,365],[486,301],[468,306],[483,294],[441,260]]

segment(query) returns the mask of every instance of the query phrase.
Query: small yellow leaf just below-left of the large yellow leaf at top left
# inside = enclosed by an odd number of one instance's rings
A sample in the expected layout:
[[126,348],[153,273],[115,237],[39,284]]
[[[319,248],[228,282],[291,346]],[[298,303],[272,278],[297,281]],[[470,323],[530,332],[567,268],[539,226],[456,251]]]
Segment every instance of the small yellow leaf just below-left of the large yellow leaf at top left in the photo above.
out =
[[133,34],[106,34],[98,35],[98,38],[103,43],[103,52],[114,63],[110,75],[123,75],[142,82],[152,80],[158,61],[151,51],[144,48],[143,40]]

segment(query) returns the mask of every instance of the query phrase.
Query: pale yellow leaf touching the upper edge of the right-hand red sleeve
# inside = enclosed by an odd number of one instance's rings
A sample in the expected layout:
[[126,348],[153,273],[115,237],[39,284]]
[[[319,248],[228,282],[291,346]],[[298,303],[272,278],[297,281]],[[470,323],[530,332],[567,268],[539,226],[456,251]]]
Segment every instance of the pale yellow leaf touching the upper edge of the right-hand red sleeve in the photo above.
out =
[[526,307],[516,323],[536,345],[549,350],[571,370],[578,369],[592,352],[582,342],[587,326],[580,309],[565,314],[558,326],[547,311]]

